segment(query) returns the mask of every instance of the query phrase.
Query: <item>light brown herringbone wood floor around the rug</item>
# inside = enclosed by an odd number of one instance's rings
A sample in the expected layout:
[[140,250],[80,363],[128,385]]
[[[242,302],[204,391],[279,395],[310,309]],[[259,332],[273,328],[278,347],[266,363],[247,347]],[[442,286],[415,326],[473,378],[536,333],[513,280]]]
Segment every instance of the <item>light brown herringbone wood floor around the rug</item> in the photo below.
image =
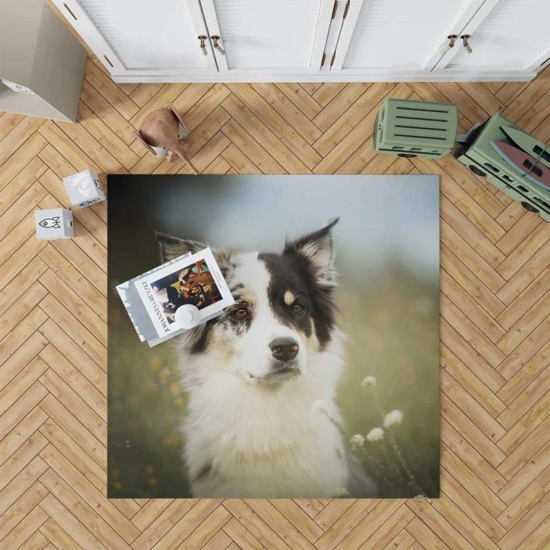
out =
[[[550,549],[550,225],[449,155],[375,155],[386,97],[455,102],[462,131],[502,111],[550,141],[550,69],[529,84],[118,86],[91,56],[77,124],[1,114],[0,549]],[[188,173],[133,133],[168,100],[203,173],[440,175],[441,498],[104,496],[106,205],[50,243],[33,210],[69,206],[60,178],[85,168]]]

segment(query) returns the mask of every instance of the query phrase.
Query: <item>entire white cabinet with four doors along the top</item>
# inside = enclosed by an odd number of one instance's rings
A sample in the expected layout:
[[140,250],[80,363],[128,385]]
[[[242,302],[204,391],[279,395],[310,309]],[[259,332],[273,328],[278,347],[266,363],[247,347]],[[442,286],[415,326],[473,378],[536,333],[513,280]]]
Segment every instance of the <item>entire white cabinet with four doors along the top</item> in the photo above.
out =
[[117,83],[500,82],[550,65],[550,0],[51,1]]

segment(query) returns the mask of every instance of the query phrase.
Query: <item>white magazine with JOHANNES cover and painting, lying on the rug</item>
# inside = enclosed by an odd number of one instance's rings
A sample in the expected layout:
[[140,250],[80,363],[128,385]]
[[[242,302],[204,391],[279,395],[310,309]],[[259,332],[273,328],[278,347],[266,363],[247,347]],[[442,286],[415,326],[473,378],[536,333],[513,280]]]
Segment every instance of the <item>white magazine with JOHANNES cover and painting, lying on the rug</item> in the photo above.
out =
[[164,263],[117,290],[140,339],[151,346],[192,328],[189,322],[196,326],[221,315],[234,303],[210,248]]

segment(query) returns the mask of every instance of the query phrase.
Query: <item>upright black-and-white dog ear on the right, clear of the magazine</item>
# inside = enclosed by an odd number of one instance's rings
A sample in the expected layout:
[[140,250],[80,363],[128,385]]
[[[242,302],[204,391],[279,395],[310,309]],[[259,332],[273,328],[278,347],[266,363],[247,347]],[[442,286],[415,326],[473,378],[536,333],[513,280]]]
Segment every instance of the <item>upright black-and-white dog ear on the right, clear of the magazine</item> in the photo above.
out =
[[284,254],[307,259],[314,267],[318,282],[325,285],[333,285],[336,278],[332,228],[339,219],[340,217],[332,219],[319,230],[285,244]]

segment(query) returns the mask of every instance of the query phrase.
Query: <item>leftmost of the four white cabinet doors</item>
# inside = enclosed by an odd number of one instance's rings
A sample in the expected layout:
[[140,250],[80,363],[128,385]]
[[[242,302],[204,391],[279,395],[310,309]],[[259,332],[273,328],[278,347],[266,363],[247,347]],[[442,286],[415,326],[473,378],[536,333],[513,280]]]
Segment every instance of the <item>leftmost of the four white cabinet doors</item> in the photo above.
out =
[[54,0],[116,76],[217,74],[199,0]]

